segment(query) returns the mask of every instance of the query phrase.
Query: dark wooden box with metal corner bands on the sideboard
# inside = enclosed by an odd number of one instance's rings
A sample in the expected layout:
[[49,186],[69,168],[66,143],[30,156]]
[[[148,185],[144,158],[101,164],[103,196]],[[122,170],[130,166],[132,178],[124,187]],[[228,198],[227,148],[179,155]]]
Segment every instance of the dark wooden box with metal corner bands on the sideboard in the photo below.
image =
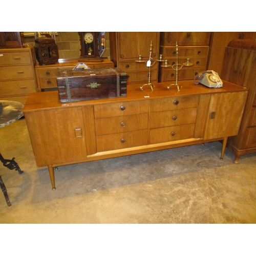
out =
[[60,102],[126,96],[126,73],[118,68],[57,71]]

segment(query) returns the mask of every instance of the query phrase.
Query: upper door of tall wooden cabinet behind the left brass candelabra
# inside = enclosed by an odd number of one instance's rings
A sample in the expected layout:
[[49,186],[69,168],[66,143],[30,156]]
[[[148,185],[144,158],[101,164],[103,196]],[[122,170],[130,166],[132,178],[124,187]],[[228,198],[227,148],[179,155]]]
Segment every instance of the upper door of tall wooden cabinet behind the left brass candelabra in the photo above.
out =
[[139,55],[148,58],[151,41],[155,58],[159,52],[159,36],[159,32],[118,32],[118,60],[136,60]]

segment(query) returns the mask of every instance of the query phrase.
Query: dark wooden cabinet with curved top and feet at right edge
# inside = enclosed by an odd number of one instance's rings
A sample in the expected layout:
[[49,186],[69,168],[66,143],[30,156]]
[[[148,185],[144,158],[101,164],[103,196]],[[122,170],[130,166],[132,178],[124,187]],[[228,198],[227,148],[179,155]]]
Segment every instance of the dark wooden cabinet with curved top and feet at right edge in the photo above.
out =
[[[256,152],[256,41],[238,39],[226,47],[222,78],[249,89],[245,110],[237,136],[228,140],[235,163],[248,153]],[[239,102],[240,99],[234,99]]]

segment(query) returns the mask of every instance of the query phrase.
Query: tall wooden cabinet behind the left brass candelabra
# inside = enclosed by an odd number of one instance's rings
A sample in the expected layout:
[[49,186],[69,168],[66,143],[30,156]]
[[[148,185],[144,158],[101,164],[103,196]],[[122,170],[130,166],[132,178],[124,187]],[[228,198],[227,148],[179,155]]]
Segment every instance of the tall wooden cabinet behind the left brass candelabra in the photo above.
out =
[[[148,82],[149,68],[146,60],[150,57],[152,41],[152,58],[159,58],[160,32],[110,32],[111,60],[115,67],[123,70],[129,78],[127,84]],[[141,59],[143,62],[136,62]],[[158,81],[158,62],[151,67],[151,82]]]

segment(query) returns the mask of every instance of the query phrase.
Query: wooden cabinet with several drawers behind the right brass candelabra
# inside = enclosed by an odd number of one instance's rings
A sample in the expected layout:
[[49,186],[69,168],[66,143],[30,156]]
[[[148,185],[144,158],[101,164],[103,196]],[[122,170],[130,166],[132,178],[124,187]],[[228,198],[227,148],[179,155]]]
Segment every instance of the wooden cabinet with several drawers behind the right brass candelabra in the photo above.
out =
[[[194,79],[202,71],[206,70],[210,32],[161,32],[160,33],[160,54],[168,65],[175,65],[177,62],[176,41],[178,43],[178,63],[187,61],[193,66],[183,66],[178,71],[178,79]],[[172,67],[161,67],[159,63],[159,81],[173,81],[176,79],[176,71]]]

